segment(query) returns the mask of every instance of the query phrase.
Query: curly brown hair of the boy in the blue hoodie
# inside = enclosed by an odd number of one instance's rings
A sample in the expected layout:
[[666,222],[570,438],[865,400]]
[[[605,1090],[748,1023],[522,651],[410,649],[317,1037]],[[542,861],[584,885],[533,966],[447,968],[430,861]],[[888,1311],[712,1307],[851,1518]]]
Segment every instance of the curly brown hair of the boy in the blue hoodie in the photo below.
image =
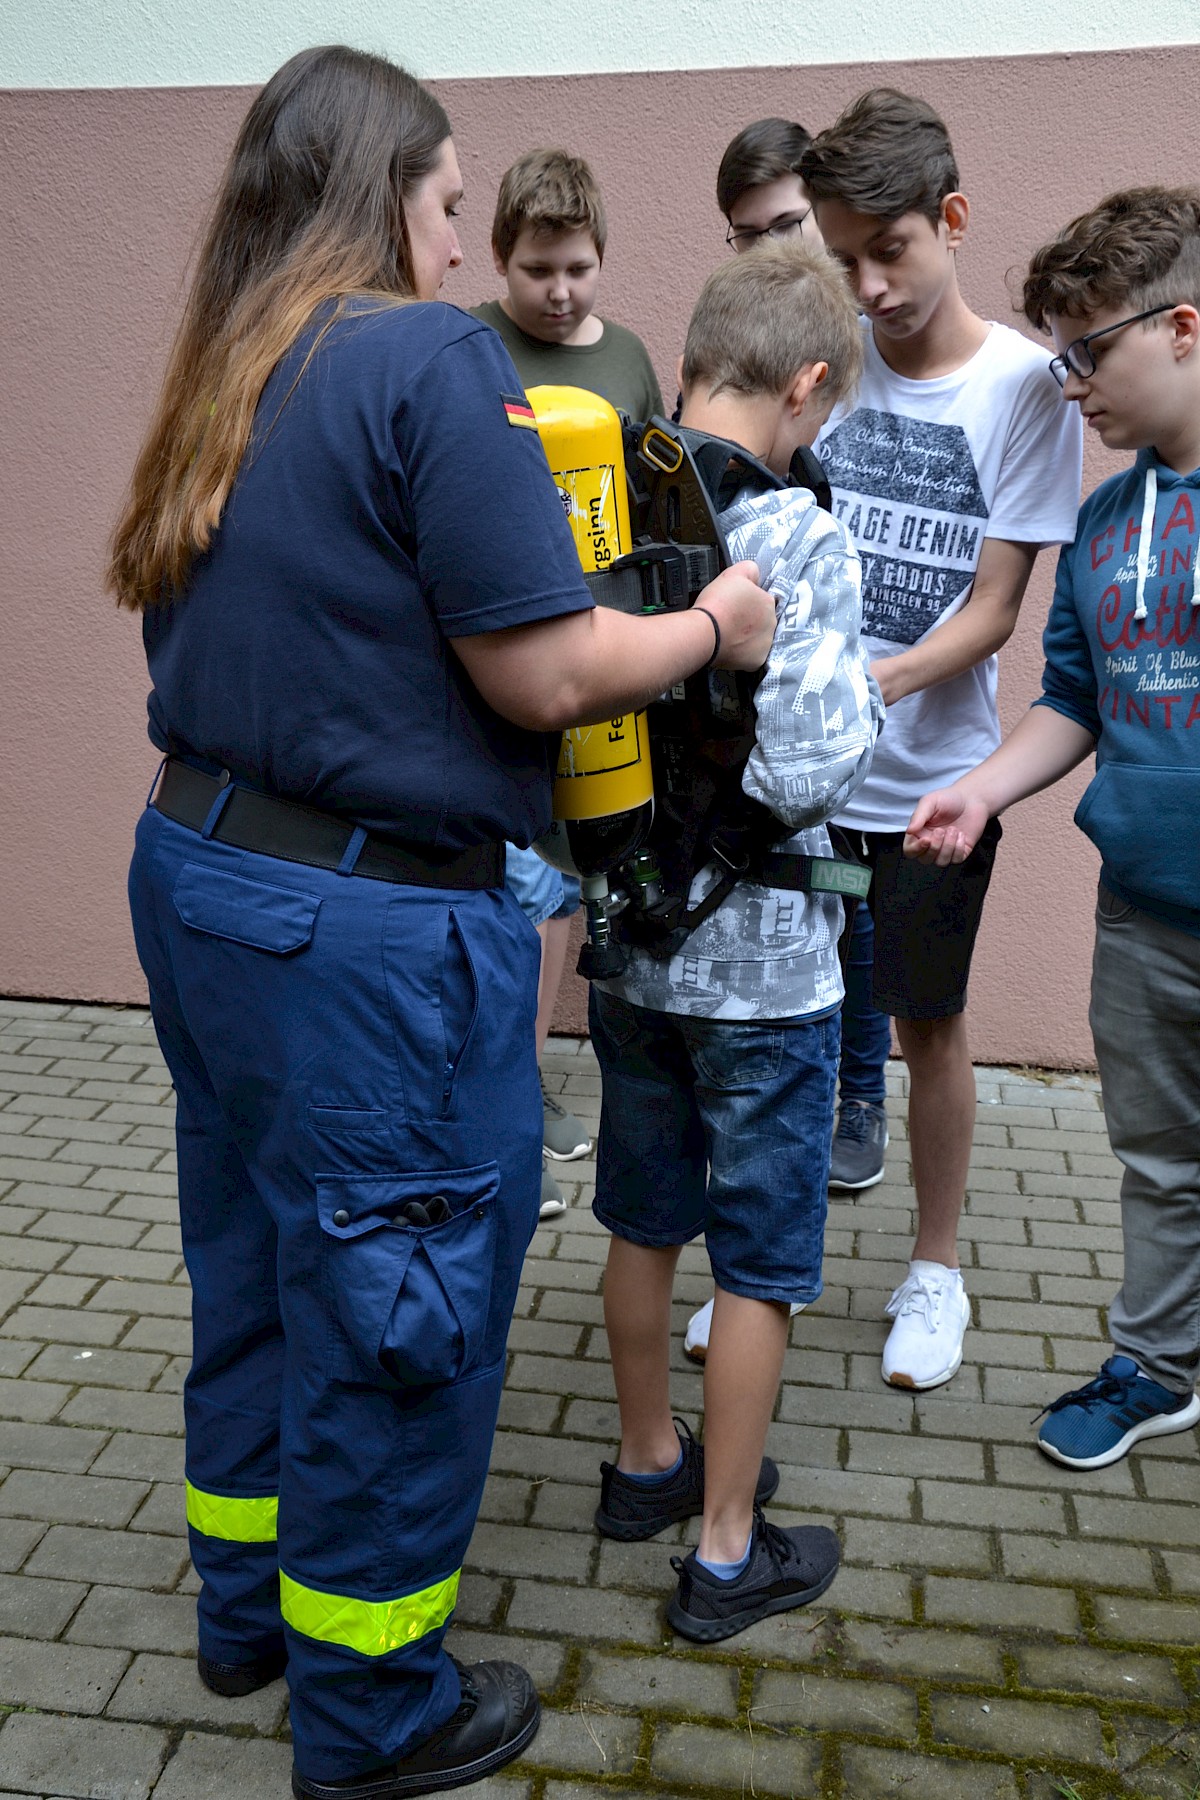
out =
[[1022,304],[1031,326],[1106,306],[1200,306],[1200,187],[1124,187],[1034,250]]

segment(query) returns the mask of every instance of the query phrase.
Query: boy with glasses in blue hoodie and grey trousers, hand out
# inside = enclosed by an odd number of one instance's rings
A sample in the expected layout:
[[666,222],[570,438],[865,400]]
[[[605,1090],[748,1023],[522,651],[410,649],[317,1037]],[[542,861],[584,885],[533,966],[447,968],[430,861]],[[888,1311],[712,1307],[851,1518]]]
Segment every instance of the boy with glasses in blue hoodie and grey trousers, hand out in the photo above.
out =
[[986,821],[1096,752],[1076,823],[1101,853],[1090,1024],[1124,1165],[1115,1354],[1047,1408],[1072,1469],[1200,1418],[1200,189],[1110,194],[1036,252],[1025,315],[1063,398],[1137,452],[1061,551],[1042,697],[919,801],[905,850],[959,862]]

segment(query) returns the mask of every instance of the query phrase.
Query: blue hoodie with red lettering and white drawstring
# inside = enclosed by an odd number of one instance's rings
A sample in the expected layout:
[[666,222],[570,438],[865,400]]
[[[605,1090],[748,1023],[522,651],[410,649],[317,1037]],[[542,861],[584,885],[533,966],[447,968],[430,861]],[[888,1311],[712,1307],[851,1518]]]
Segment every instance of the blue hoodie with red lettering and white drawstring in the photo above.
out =
[[1200,936],[1200,470],[1153,450],[1058,558],[1038,706],[1096,736],[1076,824],[1121,900]]

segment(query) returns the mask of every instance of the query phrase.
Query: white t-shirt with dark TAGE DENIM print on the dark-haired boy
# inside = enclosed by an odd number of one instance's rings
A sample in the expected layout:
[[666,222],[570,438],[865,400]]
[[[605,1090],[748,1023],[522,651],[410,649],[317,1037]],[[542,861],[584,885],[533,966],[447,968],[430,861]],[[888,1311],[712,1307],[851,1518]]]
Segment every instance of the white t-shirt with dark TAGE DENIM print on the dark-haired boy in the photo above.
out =
[[[954,374],[910,382],[887,367],[864,320],[865,369],[851,407],[817,441],[833,513],[862,556],[864,641],[898,655],[961,612],[984,538],[1070,544],[1083,430],[1051,353],[993,324]],[[867,779],[838,812],[860,832],[903,832],[921,794],[946,787],[1000,742],[997,659],[887,709]]]

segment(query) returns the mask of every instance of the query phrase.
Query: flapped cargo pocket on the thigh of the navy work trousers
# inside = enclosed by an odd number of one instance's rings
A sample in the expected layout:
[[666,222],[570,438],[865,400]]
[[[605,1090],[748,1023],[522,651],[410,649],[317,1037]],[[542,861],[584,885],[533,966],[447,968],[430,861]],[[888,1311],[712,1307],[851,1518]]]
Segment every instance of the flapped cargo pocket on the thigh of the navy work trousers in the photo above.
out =
[[317,1175],[329,1373],[403,1386],[457,1381],[488,1334],[497,1163],[403,1175]]

